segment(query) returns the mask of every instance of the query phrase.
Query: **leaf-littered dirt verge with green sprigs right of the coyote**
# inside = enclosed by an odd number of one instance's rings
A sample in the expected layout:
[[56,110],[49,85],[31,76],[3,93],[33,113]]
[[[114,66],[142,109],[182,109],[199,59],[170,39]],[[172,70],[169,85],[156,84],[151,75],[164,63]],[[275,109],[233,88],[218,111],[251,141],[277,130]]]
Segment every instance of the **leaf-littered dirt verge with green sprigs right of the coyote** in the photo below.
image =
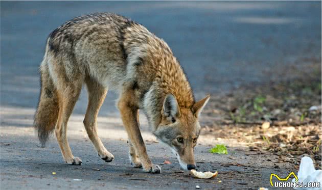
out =
[[319,63],[320,60],[313,60],[307,65],[312,69],[310,74],[292,69],[286,80],[245,85],[215,95],[206,111],[207,116],[215,119],[206,124],[205,133],[236,139],[252,150],[271,152],[295,169],[307,155],[321,169]]

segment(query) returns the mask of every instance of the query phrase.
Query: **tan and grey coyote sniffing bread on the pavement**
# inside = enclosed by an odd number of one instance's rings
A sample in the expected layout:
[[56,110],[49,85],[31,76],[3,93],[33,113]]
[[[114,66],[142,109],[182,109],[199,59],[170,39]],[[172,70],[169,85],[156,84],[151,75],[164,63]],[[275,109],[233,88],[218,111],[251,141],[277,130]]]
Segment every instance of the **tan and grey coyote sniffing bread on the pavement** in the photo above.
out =
[[106,162],[114,159],[97,131],[97,115],[107,89],[111,89],[119,93],[117,107],[128,134],[133,167],[161,172],[147,154],[139,128],[140,109],[153,134],[173,150],[180,166],[195,169],[198,118],[210,96],[195,101],[187,77],[167,43],[143,25],[110,13],[67,21],[49,35],[40,74],[41,92],[34,126],[42,146],[55,129],[67,164],[82,163],[72,154],[66,132],[85,83],[88,106],[83,123],[100,158]]

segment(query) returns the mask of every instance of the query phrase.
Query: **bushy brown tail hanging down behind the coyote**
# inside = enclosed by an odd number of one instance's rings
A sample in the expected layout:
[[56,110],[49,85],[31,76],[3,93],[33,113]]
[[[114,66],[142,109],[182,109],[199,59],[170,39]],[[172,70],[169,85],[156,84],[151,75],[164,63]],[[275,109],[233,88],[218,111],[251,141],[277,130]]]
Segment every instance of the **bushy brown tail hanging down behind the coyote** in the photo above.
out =
[[45,61],[40,66],[41,91],[35,114],[34,126],[41,146],[44,147],[49,134],[55,129],[59,114],[59,100],[53,79]]

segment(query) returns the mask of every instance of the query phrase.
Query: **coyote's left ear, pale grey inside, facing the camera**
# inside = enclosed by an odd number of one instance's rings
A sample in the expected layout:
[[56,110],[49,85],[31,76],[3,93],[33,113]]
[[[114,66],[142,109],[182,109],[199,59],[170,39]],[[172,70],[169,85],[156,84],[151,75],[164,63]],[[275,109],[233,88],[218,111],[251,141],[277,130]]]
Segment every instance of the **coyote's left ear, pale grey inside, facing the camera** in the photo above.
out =
[[172,123],[180,116],[178,102],[173,94],[167,94],[163,102],[162,116]]

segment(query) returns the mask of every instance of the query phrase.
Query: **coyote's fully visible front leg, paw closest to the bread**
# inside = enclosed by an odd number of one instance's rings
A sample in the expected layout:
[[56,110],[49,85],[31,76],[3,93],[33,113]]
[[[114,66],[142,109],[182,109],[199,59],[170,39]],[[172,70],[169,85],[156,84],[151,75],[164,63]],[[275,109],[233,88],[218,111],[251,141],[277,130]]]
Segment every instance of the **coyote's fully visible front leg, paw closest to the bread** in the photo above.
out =
[[151,173],[161,173],[161,168],[158,165],[153,165],[141,135],[139,123],[137,122],[137,110],[135,105],[131,104],[132,93],[123,93],[118,102],[118,108],[121,113],[123,125],[128,134],[129,140],[133,145],[135,153],[139,156],[143,170]]

